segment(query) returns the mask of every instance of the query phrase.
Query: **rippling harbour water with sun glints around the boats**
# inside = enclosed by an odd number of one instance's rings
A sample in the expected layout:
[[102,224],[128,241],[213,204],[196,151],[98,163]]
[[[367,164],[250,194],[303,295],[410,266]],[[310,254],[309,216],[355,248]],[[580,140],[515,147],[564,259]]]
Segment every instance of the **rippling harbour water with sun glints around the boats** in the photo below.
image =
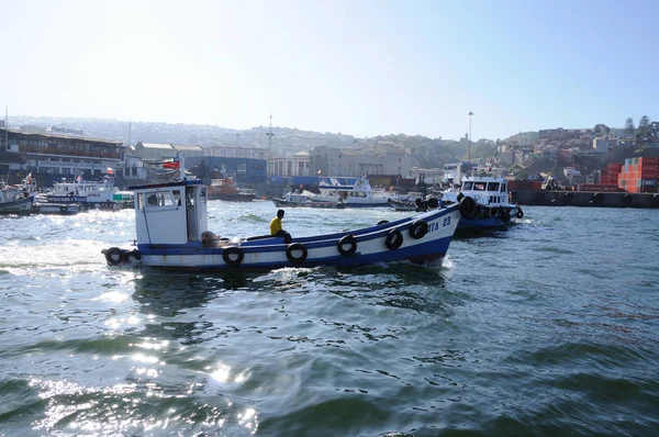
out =
[[[228,237],[275,214],[209,205]],[[440,266],[249,276],[108,267],[131,210],[1,218],[0,435],[657,435],[659,211],[525,213]]]

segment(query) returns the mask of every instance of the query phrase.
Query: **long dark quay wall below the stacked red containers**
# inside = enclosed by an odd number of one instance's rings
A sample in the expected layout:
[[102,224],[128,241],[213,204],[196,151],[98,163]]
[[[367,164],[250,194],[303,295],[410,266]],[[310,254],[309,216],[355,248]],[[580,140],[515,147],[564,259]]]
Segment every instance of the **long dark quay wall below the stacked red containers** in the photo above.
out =
[[659,193],[513,190],[511,195],[521,205],[659,209]]

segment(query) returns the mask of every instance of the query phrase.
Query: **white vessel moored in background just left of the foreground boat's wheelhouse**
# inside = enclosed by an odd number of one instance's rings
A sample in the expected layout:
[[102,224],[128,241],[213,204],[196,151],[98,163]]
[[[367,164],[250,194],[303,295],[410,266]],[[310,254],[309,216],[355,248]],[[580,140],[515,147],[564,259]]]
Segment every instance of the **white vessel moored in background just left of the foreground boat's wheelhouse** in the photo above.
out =
[[86,210],[114,210],[121,209],[114,201],[116,191],[119,189],[114,187],[112,169],[108,169],[108,173],[103,175],[101,180],[83,180],[79,175],[74,182],[55,182],[45,199],[48,203],[79,203]]

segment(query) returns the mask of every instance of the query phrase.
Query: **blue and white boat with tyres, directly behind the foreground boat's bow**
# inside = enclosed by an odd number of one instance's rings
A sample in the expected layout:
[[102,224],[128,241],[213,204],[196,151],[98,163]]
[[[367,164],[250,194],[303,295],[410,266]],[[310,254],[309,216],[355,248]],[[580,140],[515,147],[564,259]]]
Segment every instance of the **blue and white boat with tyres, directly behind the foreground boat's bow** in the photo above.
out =
[[459,229],[501,227],[524,217],[520,205],[511,203],[503,177],[467,176],[460,188],[442,192],[440,199],[445,204],[459,205]]

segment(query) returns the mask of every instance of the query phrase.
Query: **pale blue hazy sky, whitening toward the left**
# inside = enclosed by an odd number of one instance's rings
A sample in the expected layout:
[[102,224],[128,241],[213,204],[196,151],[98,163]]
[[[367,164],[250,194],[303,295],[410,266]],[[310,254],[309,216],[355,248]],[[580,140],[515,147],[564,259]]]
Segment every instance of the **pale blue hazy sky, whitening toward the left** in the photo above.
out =
[[[474,141],[659,117],[659,1],[0,0],[12,115]],[[473,115],[469,116],[469,112]]]

